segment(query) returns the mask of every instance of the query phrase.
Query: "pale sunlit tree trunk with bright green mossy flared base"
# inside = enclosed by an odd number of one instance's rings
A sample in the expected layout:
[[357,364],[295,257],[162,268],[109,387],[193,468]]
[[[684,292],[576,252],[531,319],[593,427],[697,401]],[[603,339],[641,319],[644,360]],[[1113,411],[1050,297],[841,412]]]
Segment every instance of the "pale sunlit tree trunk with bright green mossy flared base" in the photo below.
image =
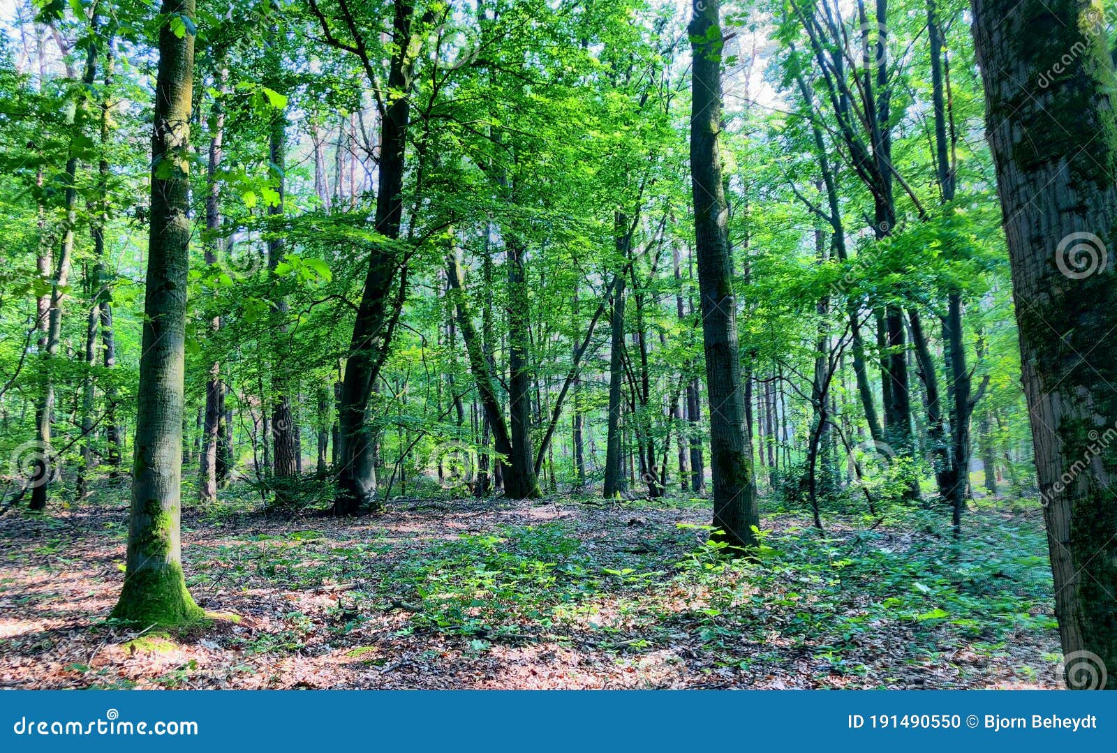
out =
[[191,235],[187,171],[194,67],[190,28],[181,38],[171,29],[171,19],[181,16],[193,18],[193,0],[163,3],[127,569],[112,614],[145,628],[182,625],[203,616],[187,591],[179,540]]

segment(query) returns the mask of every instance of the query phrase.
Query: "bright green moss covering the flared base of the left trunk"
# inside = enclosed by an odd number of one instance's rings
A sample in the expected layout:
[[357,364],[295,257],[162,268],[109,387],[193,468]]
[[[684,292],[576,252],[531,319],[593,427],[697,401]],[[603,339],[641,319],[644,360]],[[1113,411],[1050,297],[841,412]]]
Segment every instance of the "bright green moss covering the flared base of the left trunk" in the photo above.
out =
[[176,628],[204,619],[206,612],[187,591],[182,565],[171,562],[130,572],[112,617],[143,627]]

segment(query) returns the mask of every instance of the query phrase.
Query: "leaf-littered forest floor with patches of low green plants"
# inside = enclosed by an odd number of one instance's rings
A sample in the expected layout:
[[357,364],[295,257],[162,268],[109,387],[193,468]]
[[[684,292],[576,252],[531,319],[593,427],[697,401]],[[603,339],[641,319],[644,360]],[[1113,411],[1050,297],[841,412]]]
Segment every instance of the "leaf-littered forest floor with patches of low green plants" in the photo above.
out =
[[[346,521],[183,513],[208,623],[108,613],[125,486],[0,518],[0,687],[1054,688],[1042,518],[764,511],[760,561],[706,543],[708,503],[405,499]],[[257,499],[258,502],[258,499]]]

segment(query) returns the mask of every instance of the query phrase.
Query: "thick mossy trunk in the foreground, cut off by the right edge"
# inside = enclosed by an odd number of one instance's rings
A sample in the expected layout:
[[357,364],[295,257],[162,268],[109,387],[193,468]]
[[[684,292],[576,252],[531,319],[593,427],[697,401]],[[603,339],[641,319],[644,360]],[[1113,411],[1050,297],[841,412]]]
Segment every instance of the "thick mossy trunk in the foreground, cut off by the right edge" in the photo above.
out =
[[1117,416],[1117,362],[1098,347],[1117,326],[1117,134],[1092,13],[1079,0],[974,0],[973,34],[1067,683],[1098,687],[1108,668],[1117,689],[1117,473],[1097,441]]

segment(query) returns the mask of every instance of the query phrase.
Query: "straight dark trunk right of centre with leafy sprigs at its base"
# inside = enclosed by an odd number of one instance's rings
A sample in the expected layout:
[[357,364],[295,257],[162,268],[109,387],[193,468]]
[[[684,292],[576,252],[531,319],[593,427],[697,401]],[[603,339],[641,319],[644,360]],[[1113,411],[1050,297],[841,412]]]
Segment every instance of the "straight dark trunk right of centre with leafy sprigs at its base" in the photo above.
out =
[[695,0],[690,172],[709,394],[714,525],[731,546],[754,546],[760,525],[751,437],[737,349],[737,311],[729,259],[728,209],[722,182],[722,30],[717,0]]

